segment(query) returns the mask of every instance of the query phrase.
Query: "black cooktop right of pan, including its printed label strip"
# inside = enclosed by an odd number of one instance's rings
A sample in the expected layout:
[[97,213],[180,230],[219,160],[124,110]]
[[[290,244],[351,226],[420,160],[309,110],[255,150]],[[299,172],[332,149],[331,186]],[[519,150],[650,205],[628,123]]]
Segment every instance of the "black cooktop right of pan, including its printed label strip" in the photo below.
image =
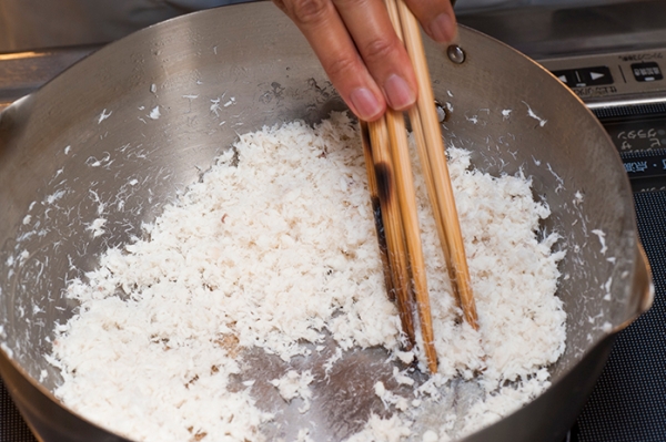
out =
[[[634,188],[640,241],[655,284],[653,307],[617,337],[572,430],[579,442],[666,441],[666,106],[595,111]],[[640,136],[638,135],[640,134]]]

